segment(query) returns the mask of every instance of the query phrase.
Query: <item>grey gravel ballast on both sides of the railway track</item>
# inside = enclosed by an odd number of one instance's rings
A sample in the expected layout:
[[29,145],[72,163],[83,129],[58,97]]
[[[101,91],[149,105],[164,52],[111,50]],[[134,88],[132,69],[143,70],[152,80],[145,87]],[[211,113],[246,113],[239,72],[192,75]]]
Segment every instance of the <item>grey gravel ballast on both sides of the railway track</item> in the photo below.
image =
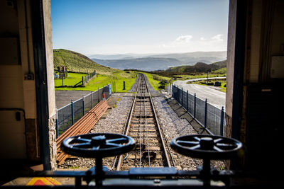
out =
[[[124,125],[131,108],[132,101],[133,97],[122,97],[120,101],[116,103],[116,108],[113,108],[106,118],[99,120],[99,122],[94,125],[94,129],[91,130],[91,132],[110,132],[121,134],[124,130]],[[178,117],[175,111],[170,108],[167,101],[165,101],[164,97],[153,97],[153,103],[169,146],[170,141],[175,137],[185,134],[197,134],[187,120],[180,119]],[[171,150],[171,153],[175,159],[175,166],[178,170],[195,170],[197,166],[202,164],[202,160],[200,159],[192,159],[187,156],[182,156],[173,150]],[[104,166],[107,166],[109,170],[112,170],[113,163],[113,157],[103,160]],[[222,161],[212,161],[212,165],[217,169],[224,168],[224,163]],[[90,168],[92,166],[94,166],[94,159],[76,158],[67,159],[60,168]]]

